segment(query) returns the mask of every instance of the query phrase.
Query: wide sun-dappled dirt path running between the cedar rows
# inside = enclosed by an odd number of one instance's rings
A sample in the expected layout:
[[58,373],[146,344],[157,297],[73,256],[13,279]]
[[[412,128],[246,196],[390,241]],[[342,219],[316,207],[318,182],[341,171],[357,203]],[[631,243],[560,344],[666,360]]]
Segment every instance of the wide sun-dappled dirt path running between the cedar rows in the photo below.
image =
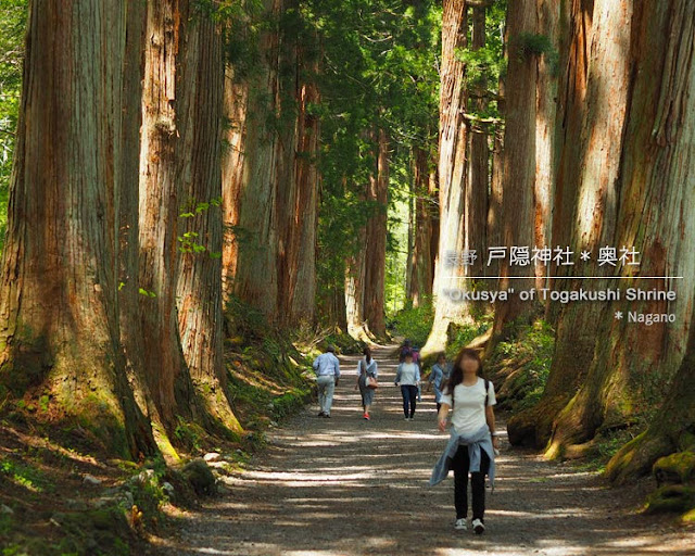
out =
[[[429,488],[446,441],[431,394],[403,419],[392,349],[378,349],[372,420],[361,418],[355,356],[332,418],[312,406],[275,431],[232,494],[184,519],[168,554],[244,556],[654,555],[695,554],[693,529],[636,515],[644,488],[608,489],[590,472],[551,464],[502,439],[484,535],[452,528],[453,480]],[[498,427],[504,430],[504,425]]]

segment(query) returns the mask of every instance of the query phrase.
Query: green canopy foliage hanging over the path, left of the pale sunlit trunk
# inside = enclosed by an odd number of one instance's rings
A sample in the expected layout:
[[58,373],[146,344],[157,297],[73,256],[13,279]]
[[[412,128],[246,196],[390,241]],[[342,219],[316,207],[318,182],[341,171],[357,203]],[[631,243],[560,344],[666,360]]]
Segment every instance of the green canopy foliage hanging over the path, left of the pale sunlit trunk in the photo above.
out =
[[[437,142],[441,8],[389,0],[309,0],[302,15],[319,45],[323,176],[318,224],[318,298],[342,291],[345,260],[364,249],[359,230],[387,207],[365,200],[376,172],[378,130],[390,142],[387,306],[405,300],[409,156]],[[336,293],[338,292],[338,293]]]

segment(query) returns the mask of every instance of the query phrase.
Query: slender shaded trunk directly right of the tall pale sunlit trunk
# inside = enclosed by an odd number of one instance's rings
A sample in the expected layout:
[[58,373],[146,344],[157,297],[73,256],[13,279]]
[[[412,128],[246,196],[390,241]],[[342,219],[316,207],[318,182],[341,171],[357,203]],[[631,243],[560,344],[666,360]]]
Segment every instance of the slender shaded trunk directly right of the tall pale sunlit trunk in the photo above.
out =
[[[472,50],[480,50],[485,46],[485,8],[476,7],[472,11]],[[486,84],[484,78],[471,88],[471,106],[473,112],[482,113],[485,110]],[[490,179],[490,150],[488,147],[486,130],[471,125],[470,128],[470,164],[468,168],[468,181],[466,184],[465,204],[465,249],[475,250],[478,257],[468,267],[472,276],[485,274],[484,253],[488,247],[488,204]],[[486,287],[486,280],[482,282]],[[494,283],[494,282],[493,282]],[[479,304],[481,308],[484,303]]]

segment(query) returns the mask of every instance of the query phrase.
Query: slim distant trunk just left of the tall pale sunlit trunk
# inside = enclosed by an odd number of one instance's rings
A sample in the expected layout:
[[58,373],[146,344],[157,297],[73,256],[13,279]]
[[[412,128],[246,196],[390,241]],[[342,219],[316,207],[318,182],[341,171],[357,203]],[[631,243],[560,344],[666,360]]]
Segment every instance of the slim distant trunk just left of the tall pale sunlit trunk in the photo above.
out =
[[432,265],[432,243],[434,212],[433,195],[435,184],[433,182],[430,154],[421,148],[414,148],[413,185],[415,188],[415,219],[413,223],[413,253],[410,256],[410,279],[408,298],[413,306],[420,306],[432,295],[432,282],[434,267]]

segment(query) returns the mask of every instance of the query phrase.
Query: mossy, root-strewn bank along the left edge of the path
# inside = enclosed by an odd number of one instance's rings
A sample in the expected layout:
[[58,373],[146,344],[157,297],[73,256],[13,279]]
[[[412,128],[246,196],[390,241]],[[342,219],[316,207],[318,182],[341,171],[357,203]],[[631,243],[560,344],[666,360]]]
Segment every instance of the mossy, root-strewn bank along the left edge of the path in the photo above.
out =
[[[194,478],[184,471],[188,460],[219,452],[225,455],[219,472],[243,467],[263,445],[264,431],[311,397],[315,355],[311,349],[295,348],[298,331],[250,321],[255,318],[252,312],[247,317],[230,328],[225,344],[230,399],[244,432],[235,439],[219,438],[197,422],[181,420],[168,435],[180,456],[169,465],[162,455],[140,462],[113,459],[114,452],[92,430],[92,421],[54,420],[50,400],[40,395],[29,401],[4,397],[0,406],[4,552],[0,554],[146,555],[155,551],[152,541],[173,534],[179,516],[205,494],[195,492]],[[317,348],[325,340],[359,348],[334,331],[320,341],[306,333],[302,338]],[[122,450],[116,452],[121,457]],[[96,481],[86,482],[86,476]],[[175,494],[169,496],[172,486]]]

